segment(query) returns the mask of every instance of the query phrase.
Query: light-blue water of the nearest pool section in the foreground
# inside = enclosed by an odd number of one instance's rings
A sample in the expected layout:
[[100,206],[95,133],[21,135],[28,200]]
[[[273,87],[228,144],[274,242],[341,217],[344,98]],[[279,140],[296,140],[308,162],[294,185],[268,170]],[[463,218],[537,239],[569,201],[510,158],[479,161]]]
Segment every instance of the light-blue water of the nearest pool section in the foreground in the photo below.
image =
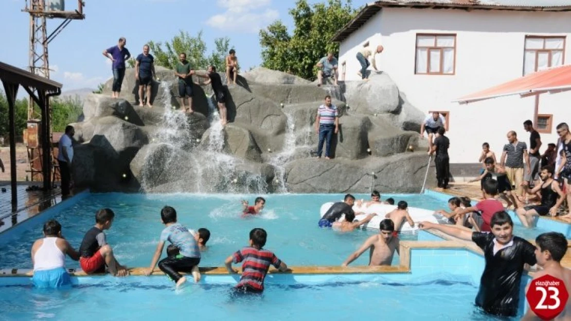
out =
[[279,277],[262,295],[238,296],[231,295],[233,284],[216,281],[224,277],[180,290],[166,277],[100,277],[59,291],[0,286],[0,320],[496,320],[473,305],[477,286],[455,277],[411,283]]

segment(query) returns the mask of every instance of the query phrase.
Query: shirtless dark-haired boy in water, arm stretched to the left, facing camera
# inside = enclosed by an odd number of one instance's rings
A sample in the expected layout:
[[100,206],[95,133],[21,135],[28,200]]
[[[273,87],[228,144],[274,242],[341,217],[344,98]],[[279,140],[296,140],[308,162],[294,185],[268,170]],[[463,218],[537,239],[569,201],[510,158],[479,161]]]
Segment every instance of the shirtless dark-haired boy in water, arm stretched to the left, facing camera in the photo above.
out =
[[400,242],[399,238],[393,237],[394,231],[395,224],[393,221],[385,218],[379,225],[379,234],[369,237],[359,250],[349,255],[341,266],[349,265],[359,258],[367,249],[371,249],[369,251],[369,266],[391,265],[395,251],[400,255]]

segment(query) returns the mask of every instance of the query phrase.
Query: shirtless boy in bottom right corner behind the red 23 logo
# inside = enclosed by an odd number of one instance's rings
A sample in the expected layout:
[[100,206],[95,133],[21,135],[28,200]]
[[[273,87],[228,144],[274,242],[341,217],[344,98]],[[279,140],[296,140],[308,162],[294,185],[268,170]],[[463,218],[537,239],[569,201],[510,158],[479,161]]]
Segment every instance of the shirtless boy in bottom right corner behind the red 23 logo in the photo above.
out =
[[[565,256],[567,251],[567,239],[565,235],[556,232],[549,232],[540,234],[536,238],[536,259],[537,265],[541,266],[543,270],[536,272],[534,280],[543,277],[544,275],[551,275],[565,283],[567,289],[571,289],[571,270],[565,269],[561,266],[561,259]],[[532,281],[533,282],[533,281]],[[527,293],[529,285],[526,287]],[[532,309],[528,306],[528,312],[521,319],[522,321],[541,320]],[[559,314],[554,321],[570,321],[571,320],[571,300],[567,300],[565,309]]]

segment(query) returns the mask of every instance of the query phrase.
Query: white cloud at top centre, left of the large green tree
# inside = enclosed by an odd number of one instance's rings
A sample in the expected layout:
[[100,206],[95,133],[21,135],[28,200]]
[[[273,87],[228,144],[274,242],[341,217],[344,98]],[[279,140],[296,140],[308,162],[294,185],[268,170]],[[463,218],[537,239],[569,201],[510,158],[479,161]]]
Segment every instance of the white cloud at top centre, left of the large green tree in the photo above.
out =
[[277,10],[262,10],[271,0],[218,0],[217,4],[226,11],[208,18],[206,24],[222,30],[256,33],[279,17]]

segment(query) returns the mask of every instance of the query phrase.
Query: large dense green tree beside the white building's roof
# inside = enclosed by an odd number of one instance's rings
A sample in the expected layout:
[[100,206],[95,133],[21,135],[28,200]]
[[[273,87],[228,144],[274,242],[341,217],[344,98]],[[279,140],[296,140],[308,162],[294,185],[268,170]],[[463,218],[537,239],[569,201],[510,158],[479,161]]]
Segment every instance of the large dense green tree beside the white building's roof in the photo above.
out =
[[345,5],[341,0],[328,0],[311,6],[307,0],[297,0],[295,8],[289,10],[295,26],[293,35],[279,20],[260,30],[262,66],[315,79],[319,59],[328,51],[339,54],[339,44],[331,38],[359,12],[351,5],[351,0]]

